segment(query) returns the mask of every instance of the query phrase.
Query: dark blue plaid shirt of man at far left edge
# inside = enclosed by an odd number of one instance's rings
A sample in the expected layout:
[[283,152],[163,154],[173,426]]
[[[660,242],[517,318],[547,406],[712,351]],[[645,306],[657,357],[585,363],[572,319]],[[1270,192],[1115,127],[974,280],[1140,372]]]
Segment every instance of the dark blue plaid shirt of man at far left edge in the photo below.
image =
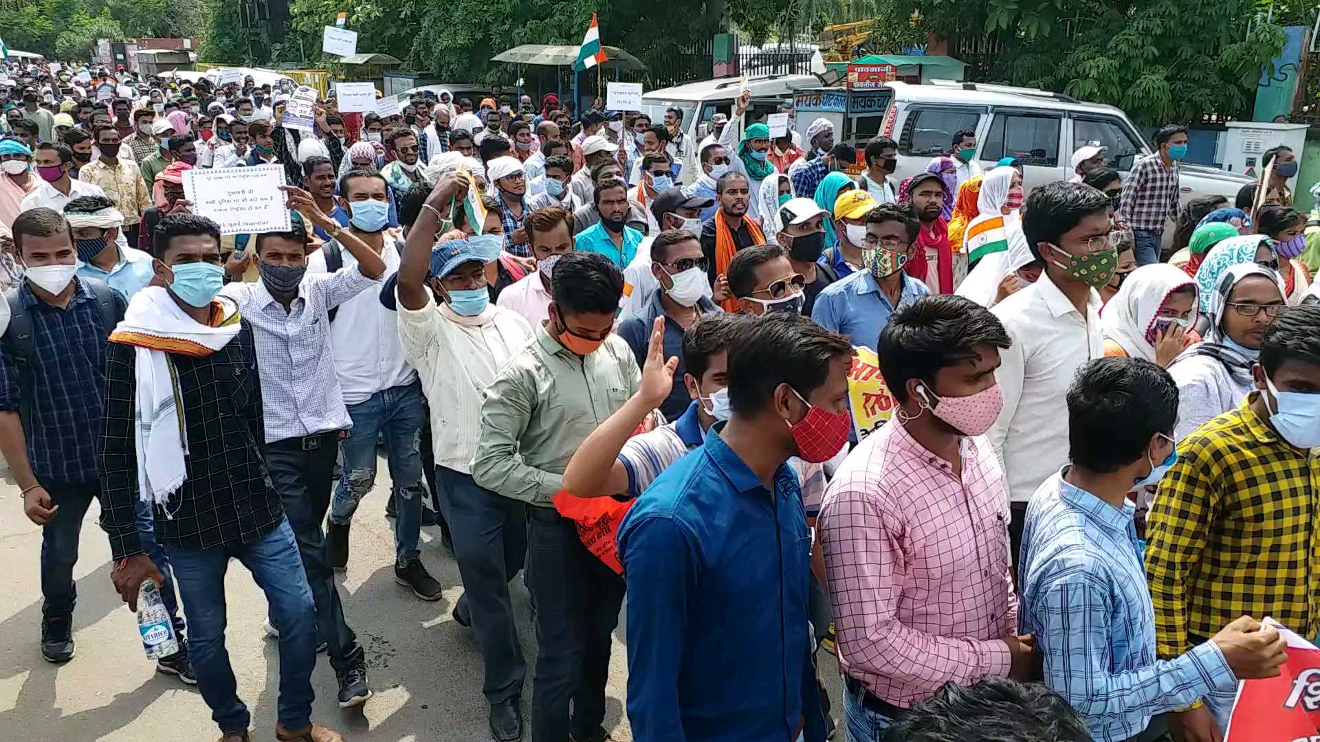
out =
[[[104,326],[87,283],[74,280],[78,288],[67,309],[38,300],[26,283],[18,287],[18,301],[32,317],[32,420],[24,421],[24,437],[32,473],[42,483],[96,481],[106,338],[114,327]],[[127,302],[117,292],[115,301],[123,317]],[[0,409],[18,412],[18,366],[5,342],[0,346]]]

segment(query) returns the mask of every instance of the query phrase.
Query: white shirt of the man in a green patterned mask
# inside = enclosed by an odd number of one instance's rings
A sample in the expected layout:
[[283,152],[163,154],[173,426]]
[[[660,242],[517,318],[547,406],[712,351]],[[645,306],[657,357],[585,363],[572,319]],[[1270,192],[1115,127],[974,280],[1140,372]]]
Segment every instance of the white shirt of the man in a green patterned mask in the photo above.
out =
[[994,305],[1012,346],[999,351],[995,379],[1003,409],[990,442],[1008,478],[1008,499],[1024,503],[1051,474],[1068,463],[1065,393],[1084,363],[1105,355],[1100,294],[1090,289],[1086,317],[1073,308],[1047,273]]

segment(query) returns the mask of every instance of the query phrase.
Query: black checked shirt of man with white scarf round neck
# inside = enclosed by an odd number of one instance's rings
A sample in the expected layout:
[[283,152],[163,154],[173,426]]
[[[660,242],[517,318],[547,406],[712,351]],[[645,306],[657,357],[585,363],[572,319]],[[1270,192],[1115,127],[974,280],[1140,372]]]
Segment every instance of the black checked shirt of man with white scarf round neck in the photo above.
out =
[[[106,407],[96,455],[100,459],[100,527],[114,557],[143,553],[133,523],[137,457],[133,408],[137,349],[111,343],[106,363]],[[187,479],[156,512],[156,539],[181,549],[252,543],[284,519],[280,495],[265,483],[261,463],[261,380],[252,327],[203,358],[169,354],[183,401]],[[169,515],[166,515],[166,511]]]

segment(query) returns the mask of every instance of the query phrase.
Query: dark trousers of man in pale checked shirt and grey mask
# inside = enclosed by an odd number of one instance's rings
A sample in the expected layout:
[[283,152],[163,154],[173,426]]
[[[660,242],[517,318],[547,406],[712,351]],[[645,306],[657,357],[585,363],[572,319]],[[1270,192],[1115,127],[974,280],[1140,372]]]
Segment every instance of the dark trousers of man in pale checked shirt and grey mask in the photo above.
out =
[[[285,438],[265,446],[265,469],[275,490],[284,500],[289,525],[298,540],[302,569],[317,603],[317,632],[329,643],[330,667],[335,672],[362,660],[358,635],[343,617],[339,589],[334,584],[326,535],[321,524],[330,510],[330,486],[334,482],[335,453],[339,432],[331,430],[306,438]],[[271,621],[275,624],[273,617]],[[275,626],[279,628],[279,624]]]

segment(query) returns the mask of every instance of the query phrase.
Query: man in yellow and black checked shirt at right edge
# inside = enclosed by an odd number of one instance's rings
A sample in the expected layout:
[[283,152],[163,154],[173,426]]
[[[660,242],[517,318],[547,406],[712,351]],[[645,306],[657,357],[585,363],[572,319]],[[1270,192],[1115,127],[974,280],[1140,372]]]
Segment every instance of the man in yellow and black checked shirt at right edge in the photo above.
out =
[[[1265,330],[1255,389],[1179,441],[1146,519],[1146,574],[1156,651],[1183,655],[1239,615],[1320,631],[1311,524],[1320,459],[1320,308],[1298,306]],[[1241,555],[1259,555],[1241,558]],[[1217,640],[1217,638],[1216,638]],[[1175,739],[1220,737],[1234,689],[1170,717]]]

